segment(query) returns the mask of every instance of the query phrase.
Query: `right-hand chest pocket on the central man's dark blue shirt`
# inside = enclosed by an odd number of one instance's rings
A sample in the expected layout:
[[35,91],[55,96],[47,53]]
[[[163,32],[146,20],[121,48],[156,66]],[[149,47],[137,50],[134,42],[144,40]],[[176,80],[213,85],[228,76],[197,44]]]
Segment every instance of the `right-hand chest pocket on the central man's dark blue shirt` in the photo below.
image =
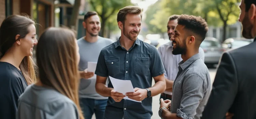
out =
[[149,57],[134,57],[134,72],[138,74],[145,74],[150,72],[150,58]]

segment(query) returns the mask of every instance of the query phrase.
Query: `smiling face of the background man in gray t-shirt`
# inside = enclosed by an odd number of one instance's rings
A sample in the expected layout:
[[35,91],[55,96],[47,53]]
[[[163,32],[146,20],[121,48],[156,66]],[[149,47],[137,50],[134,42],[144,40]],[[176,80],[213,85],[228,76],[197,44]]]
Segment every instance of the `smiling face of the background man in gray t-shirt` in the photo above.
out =
[[98,36],[101,28],[100,18],[98,15],[90,16],[83,22],[86,32],[91,36]]

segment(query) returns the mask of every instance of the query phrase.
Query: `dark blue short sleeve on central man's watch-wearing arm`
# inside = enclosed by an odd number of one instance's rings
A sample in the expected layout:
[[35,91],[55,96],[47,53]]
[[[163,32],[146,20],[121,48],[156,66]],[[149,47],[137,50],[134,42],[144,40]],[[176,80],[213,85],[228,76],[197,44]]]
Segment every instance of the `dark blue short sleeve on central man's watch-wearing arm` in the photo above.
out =
[[165,68],[163,67],[163,63],[160,57],[159,52],[156,48],[153,49],[153,55],[152,55],[152,61],[150,65],[150,72],[152,77],[157,77],[158,75],[161,75],[165,73]]

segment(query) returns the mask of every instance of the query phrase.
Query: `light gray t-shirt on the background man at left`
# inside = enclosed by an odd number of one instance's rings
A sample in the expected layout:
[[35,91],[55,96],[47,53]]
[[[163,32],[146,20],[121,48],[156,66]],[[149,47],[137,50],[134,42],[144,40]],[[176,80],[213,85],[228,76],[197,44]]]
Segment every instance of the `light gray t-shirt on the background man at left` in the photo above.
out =
[[[80,53],[79,70],[83,71],[88,68],[88,62],[98,62],[100,51],[113,43],[113,40],[109,38],[103,38],[98,36],[98,40],[95,43],[89,43],[84,37],[77,40]],[[80,98],[90,98],[96,100],[108,99],[96,92],[95,89],[96,79],[81,79],[79,87]]]

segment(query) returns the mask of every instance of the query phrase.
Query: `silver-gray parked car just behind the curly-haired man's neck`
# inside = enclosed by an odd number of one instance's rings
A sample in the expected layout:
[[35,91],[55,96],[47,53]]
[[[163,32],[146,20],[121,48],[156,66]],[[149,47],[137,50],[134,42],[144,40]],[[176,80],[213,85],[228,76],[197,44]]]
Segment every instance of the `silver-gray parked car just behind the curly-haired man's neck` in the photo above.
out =
[[200,47],[204,51],[204,63],[209,67],[213,67],[214,64],[218,64],[223,51],[225,51],[221,46],[221,42],[213,37],[205,37]]

